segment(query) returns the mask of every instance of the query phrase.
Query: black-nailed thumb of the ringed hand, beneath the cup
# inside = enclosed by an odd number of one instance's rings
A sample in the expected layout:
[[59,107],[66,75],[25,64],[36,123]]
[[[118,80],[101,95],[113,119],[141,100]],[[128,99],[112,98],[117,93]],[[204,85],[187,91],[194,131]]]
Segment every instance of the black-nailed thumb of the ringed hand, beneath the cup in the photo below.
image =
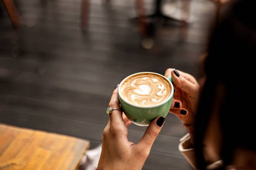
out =
[[141,140],[138,142],[139,148],[145,148],[148,150],[148,153],[151,149],[151,146],[153,145],[157,135],[159,134],[161,128],[163,127],[165,118],[164,117],[156,117],[150,125],[148,125],[148,128],[146,132],[144,133]]

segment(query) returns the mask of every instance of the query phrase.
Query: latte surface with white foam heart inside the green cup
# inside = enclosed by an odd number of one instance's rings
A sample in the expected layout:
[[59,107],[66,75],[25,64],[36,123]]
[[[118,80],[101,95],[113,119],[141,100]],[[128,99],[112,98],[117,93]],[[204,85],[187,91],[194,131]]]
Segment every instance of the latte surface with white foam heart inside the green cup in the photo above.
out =
[[132,75],[120,86],[122,97],[138,106],[157,105],[166,100],[171,91],[169,81],[154,73]]

